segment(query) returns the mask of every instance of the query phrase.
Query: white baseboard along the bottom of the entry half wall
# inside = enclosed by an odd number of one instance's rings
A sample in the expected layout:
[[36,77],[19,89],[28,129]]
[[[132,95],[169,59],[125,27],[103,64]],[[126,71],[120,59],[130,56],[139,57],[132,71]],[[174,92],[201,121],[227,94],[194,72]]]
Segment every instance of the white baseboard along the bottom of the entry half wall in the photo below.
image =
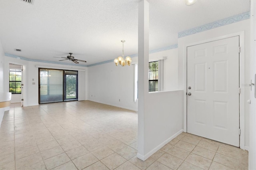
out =
[[156,153],[159,149],[161,149],[164,145],[168,144],[172,139],[176,138],[182,132],[183,132],[183,129],[179,130],[174,135],[172,135],[170,138],[168,138],[167,140],[165,140],[164,142],[162,142],[161,144],[156,146],[154,149],[152,149],[150,152],[148,152],[144,156],[137,153],[137,158],[139,158],[140,160],[143,160],[143,161],[147,160],[152,154]]

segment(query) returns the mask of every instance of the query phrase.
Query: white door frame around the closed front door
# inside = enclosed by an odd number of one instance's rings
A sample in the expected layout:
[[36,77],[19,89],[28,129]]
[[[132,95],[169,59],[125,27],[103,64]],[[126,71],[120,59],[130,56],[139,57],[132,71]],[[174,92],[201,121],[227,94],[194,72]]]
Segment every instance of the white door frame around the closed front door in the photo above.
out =
[[225,38],[231,38],[234,36],[239,36],[239,45],[240,45],[240,56],[239,56],[239,86],[240,86],[240,95],[239,95],[239,124],[240,124],[240,139],[239,139],[239,145],[241,149],[245,149],[245,63],[244,63],[244,31],[236,32],[233,34],[227,34],[224,36],[219,36],[215,38],[210,38],[198,42],[192,42],[184,45],[184,132],[187,132],[187,47],[192,45],[198,45],[201,43],[207,43],[217,40],[222,40]]

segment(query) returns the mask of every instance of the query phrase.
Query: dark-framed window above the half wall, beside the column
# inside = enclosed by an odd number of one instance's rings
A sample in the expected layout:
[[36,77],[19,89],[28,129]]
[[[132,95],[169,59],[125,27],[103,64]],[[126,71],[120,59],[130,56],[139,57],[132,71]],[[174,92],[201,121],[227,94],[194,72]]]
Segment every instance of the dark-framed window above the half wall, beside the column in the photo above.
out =
[[148,91],[158,91],[158,61],[148,63]]

